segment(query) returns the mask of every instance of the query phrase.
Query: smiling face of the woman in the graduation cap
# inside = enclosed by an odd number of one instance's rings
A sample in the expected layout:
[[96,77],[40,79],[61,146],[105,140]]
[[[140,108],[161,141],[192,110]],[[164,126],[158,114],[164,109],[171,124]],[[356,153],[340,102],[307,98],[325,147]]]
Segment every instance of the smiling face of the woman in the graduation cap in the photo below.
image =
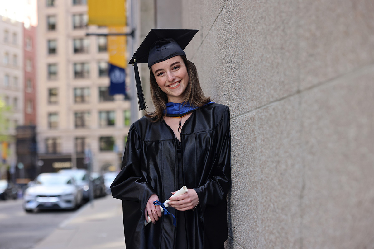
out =
[[152,65],[151,71],[157,85],[168,96],[168,102],[183,102],[184,90],[188,85],[187,67],[181,56]]

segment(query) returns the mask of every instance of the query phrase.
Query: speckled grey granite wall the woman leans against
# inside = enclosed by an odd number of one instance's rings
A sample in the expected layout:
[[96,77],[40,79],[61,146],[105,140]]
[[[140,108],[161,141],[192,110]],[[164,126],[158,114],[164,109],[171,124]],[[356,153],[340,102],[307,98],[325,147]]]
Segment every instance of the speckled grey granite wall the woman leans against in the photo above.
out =
[[186,49],[230,106],[226,248],[374,248],[374,2],[188,0]]

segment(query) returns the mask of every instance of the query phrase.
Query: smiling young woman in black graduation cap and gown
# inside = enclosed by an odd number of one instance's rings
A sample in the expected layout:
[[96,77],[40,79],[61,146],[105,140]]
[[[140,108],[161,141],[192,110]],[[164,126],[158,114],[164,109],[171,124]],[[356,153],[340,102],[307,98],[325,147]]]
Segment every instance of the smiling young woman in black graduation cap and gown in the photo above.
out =
[[[183,52],[196,32],[152,29],[131,61],[148,62],[156,110],[131,125],[111,185],[123,200],[126,248],[222,249],[227,239],[230,113],[204,96]],[[186,193],[169,198],[182,186]],[[156,200],[168,200],[176,226]],[[153,224],[144,225],[148,215]]]

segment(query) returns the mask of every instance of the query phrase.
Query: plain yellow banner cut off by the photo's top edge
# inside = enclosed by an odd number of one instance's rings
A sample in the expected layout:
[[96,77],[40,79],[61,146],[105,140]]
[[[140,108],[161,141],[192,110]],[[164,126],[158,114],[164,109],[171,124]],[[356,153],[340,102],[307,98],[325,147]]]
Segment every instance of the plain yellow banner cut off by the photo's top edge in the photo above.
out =
[[88,0],[88,24],[126,26],[125,0]]

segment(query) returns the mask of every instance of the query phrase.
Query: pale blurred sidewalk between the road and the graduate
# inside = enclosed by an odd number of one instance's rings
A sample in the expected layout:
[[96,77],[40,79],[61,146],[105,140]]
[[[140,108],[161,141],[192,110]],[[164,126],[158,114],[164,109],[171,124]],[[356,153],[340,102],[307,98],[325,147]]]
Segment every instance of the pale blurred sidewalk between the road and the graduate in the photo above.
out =
[[87,203],[34,249],[124,249],[122,201],[111,195]]

